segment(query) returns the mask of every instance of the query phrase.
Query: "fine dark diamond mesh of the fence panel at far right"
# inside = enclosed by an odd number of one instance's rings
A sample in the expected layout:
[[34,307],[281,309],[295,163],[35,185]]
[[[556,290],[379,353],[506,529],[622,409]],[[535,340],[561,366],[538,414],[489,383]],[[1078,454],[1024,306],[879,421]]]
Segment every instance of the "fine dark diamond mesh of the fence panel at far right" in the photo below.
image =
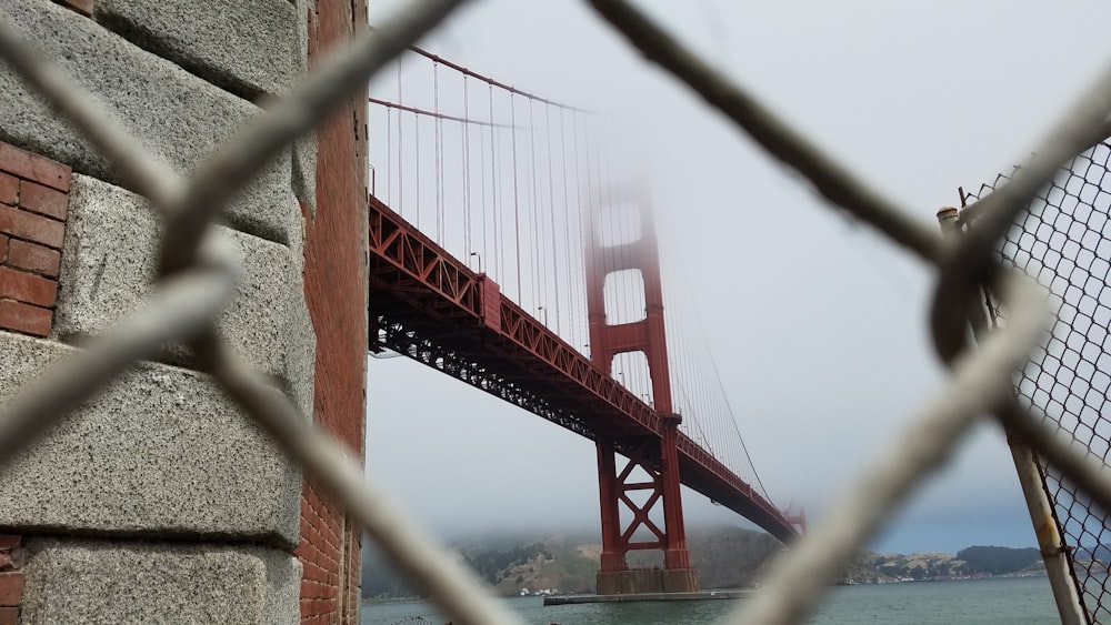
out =
[[[1107,463],[1111,454],[1111,143],[1068,163],[1031,202],[999,245],[1007,266],[1049,290],[1055,320],[1021,369],[1015,392],[1077,450]],[[1009,179],[1000,175],[962,202],[972,204]],[[965,221],[975,224],[974,204]],[[1005,325],[1005,306],[989,296],[993,324]],[[1111,530],[1105,510],[1075,484],[1042,464],[1047,494],[1071,554],[1084,607],[1095,622],[1111,617],[1108,560]]]

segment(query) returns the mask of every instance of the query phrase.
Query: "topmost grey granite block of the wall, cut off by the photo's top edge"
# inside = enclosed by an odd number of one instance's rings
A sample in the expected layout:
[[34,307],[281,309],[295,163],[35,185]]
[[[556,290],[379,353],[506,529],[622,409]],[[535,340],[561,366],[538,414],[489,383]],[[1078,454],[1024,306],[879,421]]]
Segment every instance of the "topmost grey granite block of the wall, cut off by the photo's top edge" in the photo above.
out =
[[254,100],[286,92],[301,64],[289,0],[97,0],[97,21],[190,72]]

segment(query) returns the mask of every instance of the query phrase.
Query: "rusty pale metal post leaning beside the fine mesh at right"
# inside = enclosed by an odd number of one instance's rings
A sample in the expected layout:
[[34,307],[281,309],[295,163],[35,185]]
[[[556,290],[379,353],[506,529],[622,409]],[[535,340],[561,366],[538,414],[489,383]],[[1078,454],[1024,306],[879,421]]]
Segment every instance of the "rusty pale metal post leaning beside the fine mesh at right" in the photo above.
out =
[[[961,220],[960,211],[955,208],[944,206],[940,209],[938,223],[941,226],[942,235],[947,239],[961,236],[964,232],[964,222]],[[988,296],[987,290],[984,296]],[[978,342],[993,330],[993,323],[988,321],[985,303],[987,300],[984,302],[975,300],[968,302],[969,325]],[[1060,525],[1053,513],[1053,506],[1050,504],[1038,458],[1028,445],[1007,432],[1005,427],[1004,432],[1007,444],[1011,450],[1011,458],[1014,461],[1014,471],[1018,473],[1019,484],[1022,486],[1022,496],[1027,502],[1027,511],[1030,513],[1030,522],[1033,524],[1034,535],[1038,537],[1038,548],[1045,565],[1050,587],[1053,589],[1053,601],[1057,603],[1061,623],[1089,625],[1091,619],[1080,599],[1078,581],[1072,574],[1072,558],[1061,537]]]

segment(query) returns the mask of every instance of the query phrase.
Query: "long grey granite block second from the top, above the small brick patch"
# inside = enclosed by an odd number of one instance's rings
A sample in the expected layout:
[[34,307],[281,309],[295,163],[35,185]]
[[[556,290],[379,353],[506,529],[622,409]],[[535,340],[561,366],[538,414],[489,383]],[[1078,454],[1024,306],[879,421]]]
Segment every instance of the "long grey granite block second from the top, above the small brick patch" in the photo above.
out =
[[[156,158],[180,173],[192,171],[261,111],[48,0],[0,0],[0,9],[17,31],[103,103]],[[86,139],[2,64],[0,139],[69,164],[76,172],[123,183]],[[290,151],[286,150],[232,202],[228,221],[300,253],[301,214],[292,198],[291,177]]]

